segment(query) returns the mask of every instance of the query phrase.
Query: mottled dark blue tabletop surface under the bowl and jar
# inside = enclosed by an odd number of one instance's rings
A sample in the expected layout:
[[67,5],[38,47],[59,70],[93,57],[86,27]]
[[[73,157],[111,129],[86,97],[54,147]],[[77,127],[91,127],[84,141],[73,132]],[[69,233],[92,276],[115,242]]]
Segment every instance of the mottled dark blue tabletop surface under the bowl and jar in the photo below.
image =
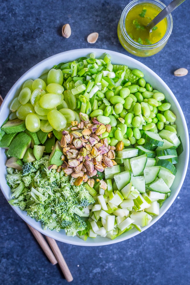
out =
[[[105,48],[132,56],[156,72],[179,101],[189,127],[190,72],[173,76],[177,68],[190,71],[190,2],[172,13],[173,31],[165,48],[148,58],[128,54],[117,38],[117,23],[129,1],[0,0],[0,93],[41,60],[75,48]],[[166,5],[170,2],[163,0]],[[61,36],[69,23],[72,34]],[[87,42],[99,32],[95,44]],[[189,169],[173,205],[148,230],[136,237],[103,247],[80,247],[58,242],[80,285],[189,284]],[[59,267],[52,266],[25,222],[0,192],[0,284],[67,284]]]

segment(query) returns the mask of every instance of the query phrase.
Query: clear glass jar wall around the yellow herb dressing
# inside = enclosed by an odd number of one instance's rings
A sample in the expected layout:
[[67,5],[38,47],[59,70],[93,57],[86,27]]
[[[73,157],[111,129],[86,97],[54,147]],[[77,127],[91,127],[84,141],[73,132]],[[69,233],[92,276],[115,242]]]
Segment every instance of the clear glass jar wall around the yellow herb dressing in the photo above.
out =
[[[172,32],[173,20],[172,20],[171,14],[169,14],[165,18],[165,20],[162,20],[162,21],[166,21],[166,32],[164,36],[158,42],[153,43],[153,44],[141,44],[139,42],[134,41],[128,35],[126,31],[126,17],[127,17],[128,12],[132,8],[134,8],[138,4],[141,4],[143,7],[143,3],[144,5],[149,5],[149,6],[152,6],[153,8],[155,7],[158,10],[158,13],[166,7],[166,5],[164,5],[162,2],[158,0],[133,0],[123,10],[120,21],[118,23],[117,32],[118,32],[119,41],[121,45],[124,47],[124,49],[126,49],[128,52],[136,56],[146,57],[146,56],[151,56],[153,54],[156,54],[157,52],[162,50],[162,48],[166,45],[168,38]],[[135,16],[134,16],[134,20],[135,20]]]

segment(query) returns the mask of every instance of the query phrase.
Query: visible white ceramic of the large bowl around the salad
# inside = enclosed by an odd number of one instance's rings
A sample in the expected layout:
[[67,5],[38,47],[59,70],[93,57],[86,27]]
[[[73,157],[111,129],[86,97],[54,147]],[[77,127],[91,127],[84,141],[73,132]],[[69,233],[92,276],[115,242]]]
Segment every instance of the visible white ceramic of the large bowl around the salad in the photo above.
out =
[[[171,103],[171,110],[175,113],[177,116],[176,124],[178,126],[178,135],[180,135],[183,143],[183,149],[184,151],[179,156],[179,163],[177,164],[177,174],[175,177],[175,180],[173,182],[173,185],[171,186],[171,195],[167,200],[163,203],[161,209],[160,209],[160,215],[153,217],[151,223],[147,227],[143,227],[142,231],[148,229],[148,227],[152,226],[158,219],[166,213],[166,211],[169,209],[175,198],[177,197],[181,186],[183,184],[183,181],[185,179],[185,175],[187,172],[187,166],[189,162],[189,136],[188,136],[188,130],[187,130],[187,124],[185,121],[185,117],[183,115],[183,111],[181,110],[181,107],[175,98],[172,91],[169,89],[169,87],[166,85],[166,83],[156,74],[154,73],[150,68],[145,66],[144,64],[140,63],[139,61],[126,56],[124,54],[114,52],[111,50],[103,50],[103,49],[93,49],[93,48],[86,48],[86,49],[76,49],[76,50],[69,50],[66,52],[62,52],[60,54],[56,54],[54,56],[51,56],[42,62],[36,64],[34,67],[32,67],[30,70],[28,70],[11,88],[7,96],[5,97],[5,100],[3,101],[3,104],[1,106],[0,110],[0,126],[5,121],[9,114],[9,105],[12,101],[13,97],[15,95],[18,95],[19,91],[21,90],[21,86],[27,79],[36,79],[41,74],[47,72],[49,69],[52,68],[55,64],[59,64],[60,62],[71,62],[72,60],[75,60],[81,56],[87,56],[91,52],[95,52],[96,58],[99,58],[103,55],[103,53],[108,53],[111,55],[111,62],[114,64],[126,64],[129,68],[137,68],[142,70],[144,73],[144,78],[146,82],[149,82],[154,89],[158,89],[159,91],[163,92],[166,96],[166,99]],[[7,201],[11,198],[11,190],[9,186],[7,185],[6,181],[6,167],[5,162],[7,160],[4,149],[0,149],[0,160],[1,160],[1,169],[0,169],[0,186],[1,190],[7,199]],[[123,233],[119,237],[117,237],[114,240],[110,240],[108,238],[100,237],[98,236],[95,239],[88,238],[87,241],[83,241],[82,239],[79,239],[77,236],[75,237],[67,237],[64,230],[61,230],[59,233],[56,231],[50,231],[46,230],[44,231],[42,229],[41,223],[36,222],[35,219],[32,219],[31,217],[26,215],[25,211],[21,211],[18,207],[13,207],[13,209],[17,212],[17,214],[24,220],[26,223],[40,231],[41,233],[52,237],[58,241],[62,241],[64,243],[69,243],[73,245],[83,245],[83,246],[98,246],[98,245],[109,245],[112,243],[118,243],[120,241],[124,241],[126,239],[129,239],[131,237],[134,237],[135,235],[139,234],[139,231],[137,231],[135,228],[132,230]]]

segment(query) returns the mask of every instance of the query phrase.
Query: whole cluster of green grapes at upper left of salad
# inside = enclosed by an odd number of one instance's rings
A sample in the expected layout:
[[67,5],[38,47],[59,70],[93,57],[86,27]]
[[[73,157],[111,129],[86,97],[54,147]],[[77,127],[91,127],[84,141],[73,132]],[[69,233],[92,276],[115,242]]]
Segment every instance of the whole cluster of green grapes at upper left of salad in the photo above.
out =
[[53,129],[61,131],[76,116],[64,101],[62,70],[52,68],[42,77],[44,80],[37,78],[24,82],[19,96],[11,102],[10,110],[13,113],[9,119],[25,120],[26,129],[30,132],[39,129],[45,133]]

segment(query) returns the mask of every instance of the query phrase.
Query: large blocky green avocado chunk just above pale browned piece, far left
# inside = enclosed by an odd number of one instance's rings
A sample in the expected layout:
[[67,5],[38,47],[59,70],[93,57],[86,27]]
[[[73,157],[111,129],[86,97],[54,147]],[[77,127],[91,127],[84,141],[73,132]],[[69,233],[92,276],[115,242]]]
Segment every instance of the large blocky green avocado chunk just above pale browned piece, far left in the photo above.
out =
[[23,158],[26,150],[30,147],[31,138],[24,132],[19,133],[9,146],[7,154],[17,158]]

